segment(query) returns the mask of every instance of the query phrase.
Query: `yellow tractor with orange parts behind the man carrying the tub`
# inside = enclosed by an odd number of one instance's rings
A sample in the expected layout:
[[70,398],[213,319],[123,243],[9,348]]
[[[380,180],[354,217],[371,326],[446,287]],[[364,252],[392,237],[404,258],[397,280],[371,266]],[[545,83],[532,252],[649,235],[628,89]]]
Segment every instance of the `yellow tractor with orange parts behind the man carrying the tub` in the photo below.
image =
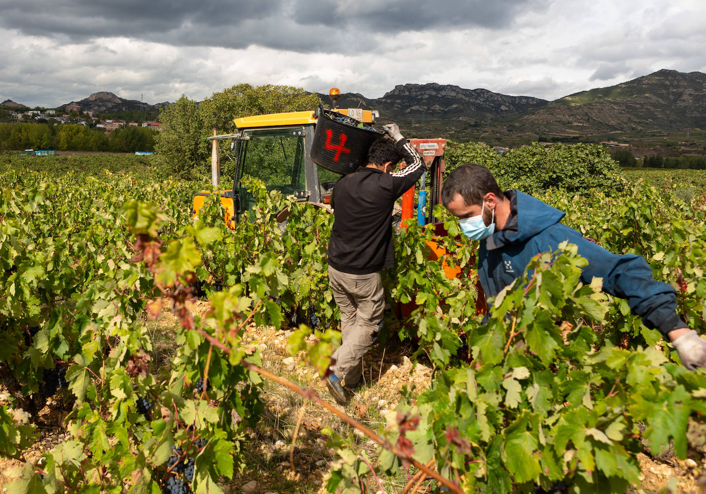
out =
[[[330,92],[333,102],[337,100],[337,89]],[[265,183],[268,190],[281,191],[285,195],[294,195],[301,202],[311,203],[330,212],[330,197],[333,186],[342,174],[328,168],[319,167],[312,159],[312,147],[315,145],[315,131],[318,112],[288,112],[246,116],[235,119],[237,133],[216,135],[214,129],[213,154],[211,156],[211,181],[213,190],[220,186],[220,161],[218,141],[231,140],[231,149],[235,155],[235,173],[230,190],[222,191],[220,200],[225,207],[225,222],[235,229],[241,217],[255,204],[255,198],[241,185],[243,176],[251,176]],[[359,108],[333,109],[328,114],[338,112],[359,121],[362,125],[375,123],[379,114],[376,111]],[[396,223],[400,226],[405,219],[415,215],[420,224],[435,222],[433,205],[441,203],[441,183],[445,168],[445,139],[409,139],[412,146],[422,155],[429,171],[421,179],[419,191],[415,193],[412,187],[402,196],[400,218]],[[333,150],[333,159],[337,159],[338,150],[345,147],[344,140],[336,140],[327,147]],[[351,169],[350,171],[354,171]],[[193,198],[193,215],[198,215],[205,198],[213,191],[200,191]],[[427,197],[429,194],[429,197]],[[415,196],[417,200],[415,201]],[[427,198],[429,205],[426,207]],[[415,204],[416,203],[416,204]],[[415,211],[416,210],[416,211]],[[280,212],[278,222],[287,219],[288,212]],[[445,236],[443,224],[434,224],[436,234]],[[429,242],[430,259],[445,255],[445,250],[434,241]],[[445,267],[448,277],[460,276],[460,269]],[[400,304],[397,308],[400,315],[409,315],[414,304]]]

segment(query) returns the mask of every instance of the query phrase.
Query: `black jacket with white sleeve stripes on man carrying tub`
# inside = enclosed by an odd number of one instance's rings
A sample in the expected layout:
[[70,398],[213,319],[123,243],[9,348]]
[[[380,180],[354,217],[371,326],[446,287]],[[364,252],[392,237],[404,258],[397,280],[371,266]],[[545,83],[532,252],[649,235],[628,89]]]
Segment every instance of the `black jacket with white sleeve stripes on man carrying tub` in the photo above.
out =
[[397,149],[407,163],[400,171],[359,167],[333,186],[328,263],[339,271],[366,275],[395,264],[393,206],[424,174],[421,157],[407,140],[400,140]]

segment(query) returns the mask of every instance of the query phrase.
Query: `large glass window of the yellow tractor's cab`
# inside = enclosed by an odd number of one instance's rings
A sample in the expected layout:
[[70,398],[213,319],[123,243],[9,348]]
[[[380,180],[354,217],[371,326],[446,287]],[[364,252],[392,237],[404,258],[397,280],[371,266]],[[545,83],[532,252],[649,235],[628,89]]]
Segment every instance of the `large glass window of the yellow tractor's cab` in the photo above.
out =
[[243,143],[238,172],[241,212],[254,203],[252,195],[240,184],[243,176],[263,181],[268,191],[297,196],[306,193],[304,128],[245,131],[244,135],[250,139]]

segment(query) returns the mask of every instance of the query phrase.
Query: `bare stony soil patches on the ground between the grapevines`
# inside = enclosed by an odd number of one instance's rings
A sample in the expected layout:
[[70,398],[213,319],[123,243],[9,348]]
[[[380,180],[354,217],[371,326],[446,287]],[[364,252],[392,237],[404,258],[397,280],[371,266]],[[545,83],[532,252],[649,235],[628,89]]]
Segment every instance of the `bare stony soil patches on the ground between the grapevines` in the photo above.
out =
[[[190,303],[193,313],[205,315],[208,311],[208,301]],[[173,329],[177,320],[172,313],[163,311],[160,318],[147,323],[153,333],[155,353],[159,354],[156,361],[167,362],[173,349]],[[247,328],[246,342],[258,345],[261,350],[263,368],[281,375],[302,387],[313,387],[319,396],[330,399],[328,391],[321,380],[316,377],[311,366],[301,365],[299,359],[289,356],[287,352],[287,337],[291,331],[276,331],[271,327]],[[364,359],[365,383],[355,392],[345,411],[357,418],[373,430],[385,426],[394,417],[394,409],[401,398],[403,386],[414,387],[414,394],[426,390],[431,383],[432,369],[417,364],[413,368],[409,356],[412,349],[404,344],[388,344],[386,347],[376,345]],[[306,404],[298,394],[282,388],[272,382],[265,382],[263,399],[266,402],[265,412],[257,430],[249,433],[249,441],[244,445],[245,470],[234,476],[232,480],[220,479],[220,486],[226,494],[268,494],[268,493],[325,493],[330,466],[340,460],[334,450],[325,445],[321,430],[326,427],[337,430],[344,435],[350,434],[357,442],[359,449],[374,456],[376,444],[349,428],[339,418],[313,404]],[[0,404],[7,401],[7,395],[0,390]],[[44,426],[40,429],[41,438],[25,452],[30,461],[38,459],[42,452],[52,449],[54,445],[68,438],[63,428],[65,412],[61,411],[61,403],[50,400],[48,406],[40,413]],[[289,462],[292,450],[292,439],[297,419],[301,415],[301,426],[294,443],[294,468]],[[635,486],[630,493],[652,494],[674,486],[673,493],[706,494],[706,487],[698,485],[698,478],[706,472],[706,464],[696,464],[691,459],[667,460],[660,462],[638,454],[642,470],[641,485]],[[0,486],[13,478],[13,467],[20,466],[14,460],[0,458]],[[414,471],[410,473],[414,474]],[[407,478],[405,474],[399,478],[383,479],[387,493],[399,493],[404,488]],[[372,485],[372,484],[371,484]],[[0,494],[5,493],[0,488]],[[375,492],[373,490],[373,492]],[[378,494],[382,490],[378,490]],[[429,482],[419,493],[431,492]]]

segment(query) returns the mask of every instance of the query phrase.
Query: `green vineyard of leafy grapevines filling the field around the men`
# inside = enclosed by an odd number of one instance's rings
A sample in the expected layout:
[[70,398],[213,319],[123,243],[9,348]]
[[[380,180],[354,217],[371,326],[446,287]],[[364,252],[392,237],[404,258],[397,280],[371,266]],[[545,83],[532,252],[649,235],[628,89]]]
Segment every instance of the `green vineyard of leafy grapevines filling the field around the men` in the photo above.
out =
[[[585,237],[643,255],[705,332],[706,174],[623,176],[586,145],[498,156],[448,152],[450,167],[487,164]],[[706,372],[599,280],[582,285],[575,247],[536,258],[481,324],[477,244],[442,207],[448,238],[409,224],[383,276],[383,338],[343,408],[320,378],[340,342],[333,216],[250,181],[256,206],[231,231],[216,200],[191,219],[207,183],[152,157],[101,159],[0,155],[6,492],[703,488]],[[429,260],[430,241],[448,257]]]

